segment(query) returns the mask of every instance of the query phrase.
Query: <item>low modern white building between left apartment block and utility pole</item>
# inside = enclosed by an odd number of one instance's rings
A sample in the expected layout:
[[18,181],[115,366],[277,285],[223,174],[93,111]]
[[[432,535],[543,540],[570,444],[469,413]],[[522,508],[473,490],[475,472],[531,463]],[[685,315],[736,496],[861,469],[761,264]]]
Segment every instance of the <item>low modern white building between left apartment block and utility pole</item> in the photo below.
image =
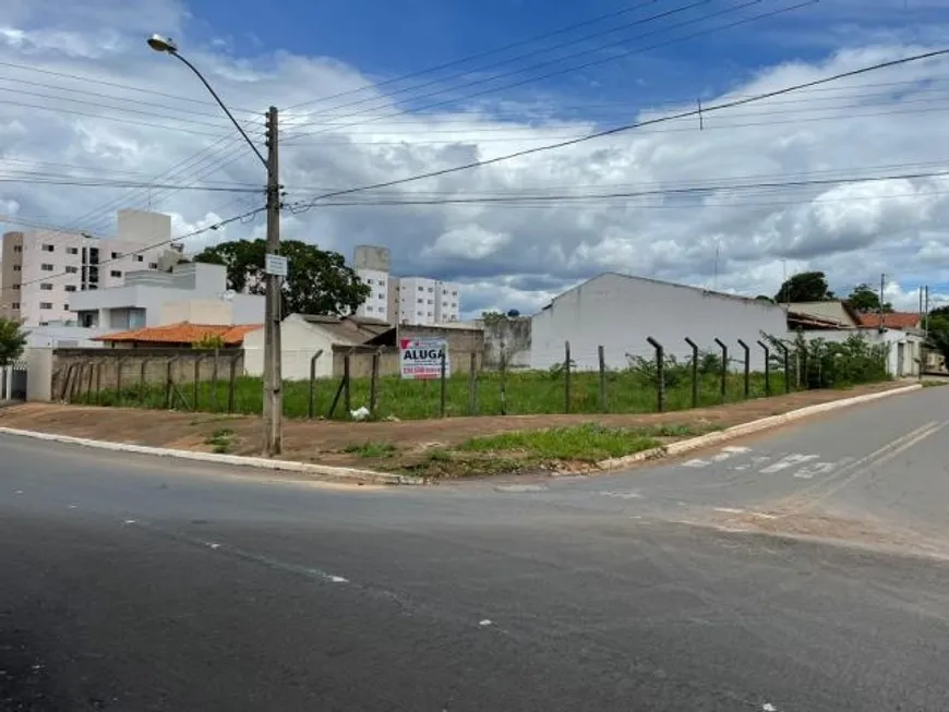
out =
[[183,263],[170,273],[131,271],[121,287],[73,294],[80,324],[100,330],[192,324],[260,324],[264,297],[227,290],[223,265]]

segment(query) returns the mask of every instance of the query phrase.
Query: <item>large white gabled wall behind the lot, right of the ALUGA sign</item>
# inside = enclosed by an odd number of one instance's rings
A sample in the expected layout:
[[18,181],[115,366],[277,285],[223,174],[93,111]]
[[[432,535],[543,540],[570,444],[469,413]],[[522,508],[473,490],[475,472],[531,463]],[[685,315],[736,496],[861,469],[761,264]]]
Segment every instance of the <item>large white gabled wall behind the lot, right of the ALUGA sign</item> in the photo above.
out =
[[759,370],[761,331],[781,337],[786,329],[784,310],[768,302],[610,273],[561,294],[532,317],[530,365],[563,363],[564,342],[569,341],[578,369],[598,366],[598,346],[604,347],[608,367],[622,369],[628,364],[626,353],[654,355],[646,341],[651,336],[677,359],[692,355],[685,337],[716,353],[714,339],[720,338],[735,369],[744,363],[737,343],[743,339],[750,347],[752,369]]

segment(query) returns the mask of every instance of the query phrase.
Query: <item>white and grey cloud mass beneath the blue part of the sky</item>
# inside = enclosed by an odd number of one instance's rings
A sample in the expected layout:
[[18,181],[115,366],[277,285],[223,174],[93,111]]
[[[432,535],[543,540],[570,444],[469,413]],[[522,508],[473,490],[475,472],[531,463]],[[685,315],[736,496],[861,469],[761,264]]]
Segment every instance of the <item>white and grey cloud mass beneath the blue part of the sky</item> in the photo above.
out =
[[[63,12],[57,15],[53,10]],[[49,20],[53,16],[56,22]],[[4,23],[0,61],[94,80],[5,68],[8,79],[0,80],[0,94],[17,104],[0,105],[0,158],[25,162],[0,161],[4,172],[63,172],[68,169],[56,165],[73,164],[88,167],[83,176],[109,180],[159,177],[161,186],[139,191],[0,183],[0,202],[14,202],[24,215],[99,233],[112,230],[117,207],[151,205],[167,210],[176,230],[190,232],[263,201],[262,195],[173,190],[193,182],[260,184],[263,169],[235,137],[197,80],[171,58],[147,50],[143,34],[153,28],[181,41],[182,52],[205,71],[259,145],[267,105],[286,107],[348,93],[285,112],[281,181],[291,202],[326,190],[490,159],[585,134],[596,125],[592,121],[545,121],[550,97],[534,105],[506,97],[497,105],[482,101],[470,112],[453,109],[388,117],[400,105],[384,97],[384,89],[362,89],[371,82],[358,68],[278,48],[235,59],[223,53],[229,40],[221,46],[220,35],[190,36],[188,10],[172,0],[95,0],[74,7],[56,0],[20,0],[12,2]],[[765,68],[705,104],[713,106],[925,49],[888,43],[850,47],[816,64],[794,61]],[[719,186],[702,194],[563,200],[541,206],[325,206],[286,214],[284,233],[347,255],[355,244],[387,244],[404,274],[430,273],[466,282],[465,306],[472,311],[530,311],[561,289],[604,269],[749,294],[773,293],[785,271],[805,268],[827,270],[838,290],[874,283],[881,271],[890,275],[897,289],[903,283],[947,281],[949,267],[942,266],[949,264],[946,178],[733,188],[949,171],[949,150],[939,149],[945,143],[942,111],[949,99],[947,69],[945,61],[906,65],[839,86],[708,112],[701,131],[697,119],[683,119],[363,193],[358,200]],[[924,84],[925,80],[934,81]],[[897,86],[893,82],[918,84]],[[642,111],[639,118],[693,108],[692,99],[669,97],[676,98],[682,99],[681,107]],[[355,101],[360,104],[343,106]],[[345,117],[360,111],[365,113]],[[305,132],[316,133],[300,135]],[[260,219],[232,224],[202,236],[193,246],[262,232]],[[909,300],[912,293],[906,287],[899,299]]]

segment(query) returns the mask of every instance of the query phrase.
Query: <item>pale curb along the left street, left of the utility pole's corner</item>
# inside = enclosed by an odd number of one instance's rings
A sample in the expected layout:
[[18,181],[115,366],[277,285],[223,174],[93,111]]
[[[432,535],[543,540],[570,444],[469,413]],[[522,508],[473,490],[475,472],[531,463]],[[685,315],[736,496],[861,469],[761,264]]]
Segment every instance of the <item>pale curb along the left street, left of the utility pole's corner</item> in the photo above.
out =
[[421,478],[411,475],[392,474],[389,472],[376,472],[374,470],[360,470],[357,468],[333,467],[329,464],[314,464],[311,462],[298,462],[293,460],[272,460],[265,457],[244,457],[241,455],[223,455],[217,452],[194,452],[191,450],[175,450],[166,447],[148,447],[146,445],[132,445],[129,443],[109,443],[107,441],[92,441],[85,437],[71,435],[57,435],[55,433],[39,433],[37,431],[21,431],[13,427],[0,427],[0,435],[17,435],[32,437],[37,441],[80,445],[98,450],[112,452],[134,452],[136,455],[151,455],[154,457],[170,457],[179,460],[193,460],[196,462],[209,462],[214,464],[233,464],[237,467],[255,468],[259,470],[276,470],[281,472],[302,472],[315,474],[334,480],[348,482],[363,482],[369,484],[424,484]]

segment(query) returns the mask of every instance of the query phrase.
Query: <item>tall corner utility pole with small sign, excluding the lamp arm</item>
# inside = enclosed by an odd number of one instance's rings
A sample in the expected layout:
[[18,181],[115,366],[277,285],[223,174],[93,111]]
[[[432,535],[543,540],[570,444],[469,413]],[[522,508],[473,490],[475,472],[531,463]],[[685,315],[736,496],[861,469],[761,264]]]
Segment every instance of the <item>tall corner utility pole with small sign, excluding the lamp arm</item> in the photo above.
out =
[[[279,128],[276,107],[267,111],[267,249],[266,315],[264,324],[264,451],[279,455],[284,448],[284,377],[280,371],[280,280],[269,255],[280,254],[280,164]],[[285,263],[286,264],[286,263]]]

